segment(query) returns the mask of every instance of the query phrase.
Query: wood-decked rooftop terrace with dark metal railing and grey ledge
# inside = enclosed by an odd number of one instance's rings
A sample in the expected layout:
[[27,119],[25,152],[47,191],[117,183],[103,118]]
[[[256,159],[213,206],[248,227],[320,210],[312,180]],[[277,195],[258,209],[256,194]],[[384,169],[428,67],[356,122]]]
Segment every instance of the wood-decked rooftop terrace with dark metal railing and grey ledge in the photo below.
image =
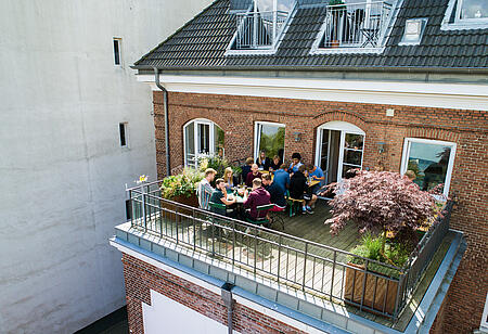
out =
[[[163,200],[157,182],[129,192],[132,219],[116,228],[114,241],[136,244],[326,322],[355,314],[356,320],[403,332],[433,282],[444,281],[440,268],[448,254],[452,258],[445,271],[462,248],[462,235],[449,230],[451,204],[403,268],[368,259],[357,268],[350,261],[358,257],[349,253],[360,240],[357,228],[349,224],[332,236],[323,223],[331,216],[325,202],[317,204],[313,215],[283,215],[281,232]],[[378,267],[389,275],[377,273]],[[339,321],[338,326],[348,325]]]

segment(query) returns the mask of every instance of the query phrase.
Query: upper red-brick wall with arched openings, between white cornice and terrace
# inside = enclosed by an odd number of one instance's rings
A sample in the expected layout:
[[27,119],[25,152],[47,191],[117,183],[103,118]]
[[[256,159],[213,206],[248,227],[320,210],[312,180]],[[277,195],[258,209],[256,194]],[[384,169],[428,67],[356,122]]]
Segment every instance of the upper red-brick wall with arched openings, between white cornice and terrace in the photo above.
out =
[[[386,116],[394,108],[395,116]],[[154,93],[156,151],[159,178],[165,175],[162,92]],[[450,193],[459,205],[452,228],[462,230],[467,251],[444,307],[446,333],[467,333],[479,326],[488,291],[488,113],[481,111],[361,104],[293,99],[169,93],[171,168],[183,164],[183,125],[194,118],[215,121],[226,133],[226,156],[253,156],[254,123],[284,124],[285,154],[300,152],[313,162],[317,127],[331,120],[351,123],[365,132],[363,167],[399,171],[406,137],[437,139],[458,144]],[[293,132],[301,133],[295,142]],[[380,155],[377,142],[386,143]]]

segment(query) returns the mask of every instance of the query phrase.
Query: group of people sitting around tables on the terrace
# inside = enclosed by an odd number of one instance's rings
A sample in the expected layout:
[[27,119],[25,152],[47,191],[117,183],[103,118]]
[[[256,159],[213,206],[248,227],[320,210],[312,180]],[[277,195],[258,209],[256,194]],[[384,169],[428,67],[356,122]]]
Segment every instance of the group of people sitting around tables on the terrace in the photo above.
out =
[[[236,217],[236,196],[228,196],[239,184],[237,178],[233,175],[232,168],[227,168],[223,178],[216,179],[217,171],[209,168],[205,171],[205,178],[198,183],[197,195],[201,208],[213,210],[220,215]],[[320,167],[314,165],[304,165],[299,153],[292,154],[292,163],[283,164],[278,155],[270,159],[265,151],[261,151],[258,158],[246,159],[242,167],[242,182],[251,192],[240,190],[239,195],[244,198],[244,217],[259,219],[267,213],[258,210],[258,206],[273,204],[272,210],[284,210],[286,207],[286,196],[301,202],[301,211],[313,214],[313,206],[317,202],[317,192],[325,182],[324,174]],[[215,189],[210,183],[215,181]],[[309,187],[309,181],[314,182]],[[211,203],[223,204],[210,205]]]

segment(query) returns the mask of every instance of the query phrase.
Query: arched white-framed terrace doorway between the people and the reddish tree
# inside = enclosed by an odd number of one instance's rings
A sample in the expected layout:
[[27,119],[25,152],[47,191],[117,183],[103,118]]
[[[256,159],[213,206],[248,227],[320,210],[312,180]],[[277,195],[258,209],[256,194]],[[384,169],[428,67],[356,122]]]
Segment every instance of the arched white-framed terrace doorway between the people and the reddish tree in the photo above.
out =
[[317,128],[316,165],[322,168],[325,183],[338,182],[348,169],[362,168],[365,132],[339,120]]

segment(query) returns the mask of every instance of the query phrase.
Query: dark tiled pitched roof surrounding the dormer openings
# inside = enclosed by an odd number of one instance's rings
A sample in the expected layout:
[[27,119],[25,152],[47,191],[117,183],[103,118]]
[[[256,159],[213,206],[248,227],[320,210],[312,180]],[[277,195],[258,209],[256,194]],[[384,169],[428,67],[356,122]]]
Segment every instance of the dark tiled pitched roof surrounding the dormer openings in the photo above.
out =
[[[487,68],[488,29],[441,30],[449,0],[404,0],[381,54],[310,55],[324,7],[299,8],[272,55],[228,55],[235,33],[229,0],[217,0],[136,63],[137,68]],[[420,46],[398,46],[407,18],[428,17]]]

